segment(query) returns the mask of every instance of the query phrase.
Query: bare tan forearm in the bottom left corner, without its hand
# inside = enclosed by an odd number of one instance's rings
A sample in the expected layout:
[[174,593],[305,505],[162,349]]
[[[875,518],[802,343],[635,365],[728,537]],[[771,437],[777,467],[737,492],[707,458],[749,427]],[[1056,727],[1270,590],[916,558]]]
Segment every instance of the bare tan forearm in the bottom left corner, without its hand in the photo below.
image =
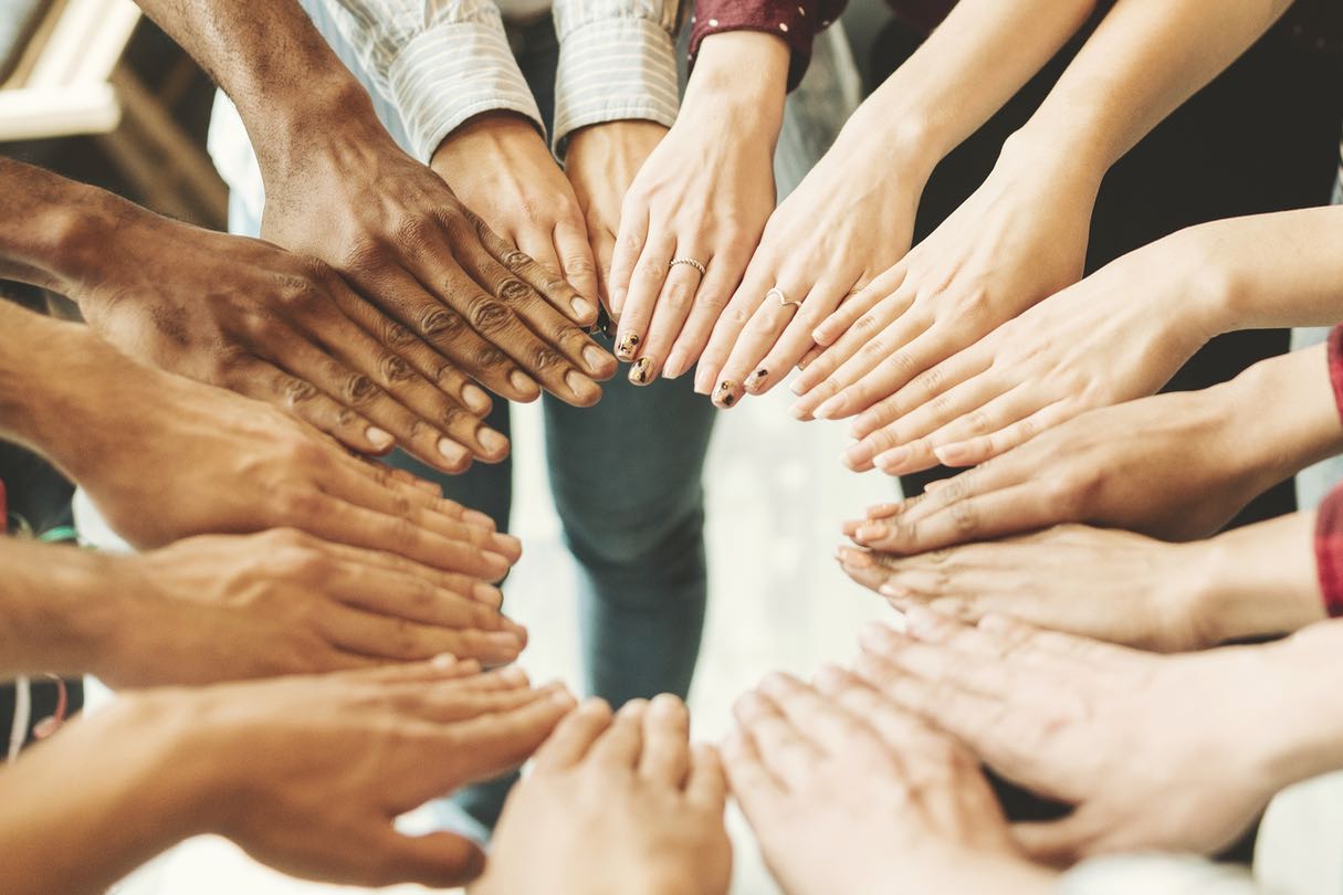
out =
[[197,757],[172,747],[181,721],[150,702],[122,698],[0,770],[0,891],[105,892],[204,832],[192,794],[207,782],[193,773]]

